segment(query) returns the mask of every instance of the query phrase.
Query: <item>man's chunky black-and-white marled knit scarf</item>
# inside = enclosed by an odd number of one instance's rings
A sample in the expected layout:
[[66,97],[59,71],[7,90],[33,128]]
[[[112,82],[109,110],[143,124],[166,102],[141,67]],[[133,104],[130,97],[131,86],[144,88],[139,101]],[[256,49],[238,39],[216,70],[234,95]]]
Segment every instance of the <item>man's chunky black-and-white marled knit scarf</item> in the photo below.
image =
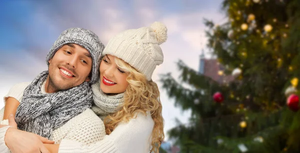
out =
[[18,129],[51,139],[53,129],[91,107],[92,91],[83,82],[67,90],[43,94],[41,86],[47,75],[48,71],[41,72],[25,88],[15,121]]

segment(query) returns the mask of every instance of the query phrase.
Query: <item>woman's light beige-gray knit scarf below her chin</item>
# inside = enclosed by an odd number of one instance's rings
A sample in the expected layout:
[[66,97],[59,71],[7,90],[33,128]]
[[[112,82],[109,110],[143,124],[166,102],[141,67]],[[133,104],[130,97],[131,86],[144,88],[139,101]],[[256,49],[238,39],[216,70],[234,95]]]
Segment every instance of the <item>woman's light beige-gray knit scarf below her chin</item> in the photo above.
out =
[[124,93],[107,95],[100,89],[99,81],[100,79],[91,85],[93,92],[93,105],[91,109],[103,120],[109,113],[114,113],[118,110],[124,101]]

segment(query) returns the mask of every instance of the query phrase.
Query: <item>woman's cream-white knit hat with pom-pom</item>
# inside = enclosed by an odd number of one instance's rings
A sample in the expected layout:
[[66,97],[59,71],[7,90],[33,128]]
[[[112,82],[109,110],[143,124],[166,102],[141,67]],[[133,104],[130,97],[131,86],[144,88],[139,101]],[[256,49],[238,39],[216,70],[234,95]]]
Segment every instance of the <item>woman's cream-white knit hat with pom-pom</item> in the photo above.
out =
[[102,55],[110,54],[124,60],[151,80],[156,65],[163,62],[159,44],[165,42],[166,32],[167,28],[161,22],[125,30],[108,41]]

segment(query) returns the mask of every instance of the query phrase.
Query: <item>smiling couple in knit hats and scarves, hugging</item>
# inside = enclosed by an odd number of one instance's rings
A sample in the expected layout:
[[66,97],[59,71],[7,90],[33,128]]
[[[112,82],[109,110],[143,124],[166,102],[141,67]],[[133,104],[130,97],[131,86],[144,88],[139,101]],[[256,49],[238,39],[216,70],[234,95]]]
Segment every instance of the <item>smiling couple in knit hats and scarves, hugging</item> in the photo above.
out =
[[104,48],[90,30],[63,31],[46,56],[48,70],[4,96],[0,152],[158,152],[163,118],[151,76],[166,32],[154,22]]

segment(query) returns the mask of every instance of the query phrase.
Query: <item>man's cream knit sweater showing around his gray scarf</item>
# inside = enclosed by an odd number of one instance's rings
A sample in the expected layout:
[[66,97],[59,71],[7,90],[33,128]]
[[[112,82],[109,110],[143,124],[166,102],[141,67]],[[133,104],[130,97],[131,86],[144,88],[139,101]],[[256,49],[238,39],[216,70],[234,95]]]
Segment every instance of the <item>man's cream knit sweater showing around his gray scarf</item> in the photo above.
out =
[[[13,97],[21,102],[23,91],[30,82],[15,84],[4,96],[4,102],[8,97]],[[45,92],[45,83],[41,86],[41,93]],[[0,110],[0,119],[3,118],[4,107]],[[88,129],[87,129],[88,128]],[[53,130],[52,140],[60,143],[62,138],[76,140],[83,144],[91,144],[103,139],[105,135],[105,127],[103,121],[91,110],[86,109],[76,117],[71,118],[65,124]]]

